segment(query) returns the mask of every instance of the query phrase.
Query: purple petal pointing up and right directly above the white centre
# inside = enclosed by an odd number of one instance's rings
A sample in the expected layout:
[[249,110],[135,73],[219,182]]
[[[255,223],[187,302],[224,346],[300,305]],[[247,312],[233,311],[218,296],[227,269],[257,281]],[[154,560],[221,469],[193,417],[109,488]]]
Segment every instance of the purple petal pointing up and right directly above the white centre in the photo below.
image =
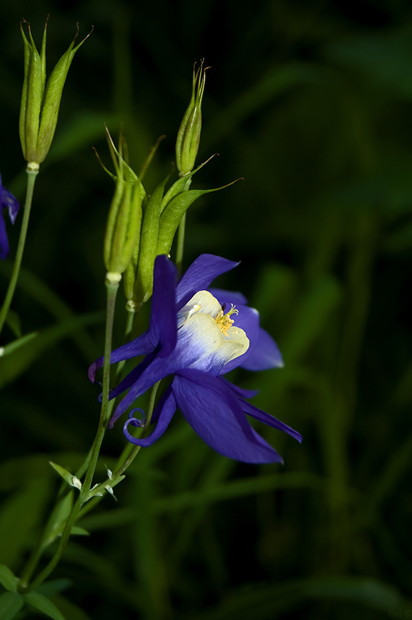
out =
[[177,285],[176,302],[178,307],[182,308],[194,296],[194,293],[204,291],[214,278],[229,271],[229,269],[234,269],[237,265],[239,265],[238,262],[214,256],[214,254],[200,254]]

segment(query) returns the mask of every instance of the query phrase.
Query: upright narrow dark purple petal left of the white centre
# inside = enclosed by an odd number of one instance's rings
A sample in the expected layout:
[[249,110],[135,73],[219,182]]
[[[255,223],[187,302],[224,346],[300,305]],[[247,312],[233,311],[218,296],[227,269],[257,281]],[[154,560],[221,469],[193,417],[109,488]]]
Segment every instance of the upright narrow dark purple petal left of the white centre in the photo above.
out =
[[161,357],[167,357],[176,347],[176,273],[176,267],[167,256],[157,256],[154,261],[150,333],[156,344],[161,343]]

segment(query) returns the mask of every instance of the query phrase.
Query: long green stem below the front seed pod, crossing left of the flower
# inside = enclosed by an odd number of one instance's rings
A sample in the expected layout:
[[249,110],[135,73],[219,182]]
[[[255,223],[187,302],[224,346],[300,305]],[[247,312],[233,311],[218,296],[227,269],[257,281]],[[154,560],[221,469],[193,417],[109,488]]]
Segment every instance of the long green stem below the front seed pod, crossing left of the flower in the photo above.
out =
[[[117,275],[117,274],[116,274]],[[30,592],[31,590],[35,590],[38,588],[41,583],[50,575],[52,570],[56,568],[57,564],[63,555],[66,545],[68,544],[70,534],[72,533],[72,527],[76,523],[77,517],[79,517],[79,512],[81,507],[87,499],[89,499],[90,486],[92,485],[92,480],[94,476],[94,471],[96,469],[97,459],[99,457],[101,443],[103,441],[103,437],[105,434],[105,428],[107,426],[107,422],[109,420],[110,415],[110,406],[109,406],[109,388],[110,388],[110,355],[112,351],[112,332],[113,332],[113,322],[114,322],[114,307],[116,304],[116,294],[119,289],[119,279],[116,278],[108,278],[106,279],[106,289],[107,289],[107,313],[106,313],[106,333],[105,333],[105,361],[103,364],[103,395],[102,395],[102,404],[101,404],[101,414],[99,420],[99,426],[97,428],[96,437],[94,438],[94,442],[92,445],[92,450],[90,454],[90,461],[87,466],[87,471],[85,475],[85,481],[79,493],[79,497],[76,499],[74,506],[72,508],[72,512],[70,513],[68,520],[66,521],[65,528],[61,535],[61,539],[59,542],[59,546],[54,553],[54,556],[50,560],[47,566],[43,568],[40,574],[30,583],[25,592]],[[39,557],[37,557],[37,561],[39,561]],[[33,559],[34,560],[34,559]],[[30,570],[33,570],[34,566],[30,566]]]

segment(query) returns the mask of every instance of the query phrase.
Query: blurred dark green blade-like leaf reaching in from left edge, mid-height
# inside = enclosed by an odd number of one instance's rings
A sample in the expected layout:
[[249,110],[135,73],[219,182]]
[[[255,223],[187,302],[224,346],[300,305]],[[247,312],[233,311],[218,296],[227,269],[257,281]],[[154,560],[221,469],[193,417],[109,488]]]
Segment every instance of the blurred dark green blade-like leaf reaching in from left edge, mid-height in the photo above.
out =
[[[63,320],[61,323],[39,331],[37,338],[30,338],[28,342],[12,351],[7,356],[6,361],[3,357],[0,358],[0,388],[21,375],[45,350],[53,347],[61,338],[71,335],[77,329],[85,327],[85,325],[100,322],[102,317],[101,312],[94,312]],[[23,338],[27,337],[24,336]]]

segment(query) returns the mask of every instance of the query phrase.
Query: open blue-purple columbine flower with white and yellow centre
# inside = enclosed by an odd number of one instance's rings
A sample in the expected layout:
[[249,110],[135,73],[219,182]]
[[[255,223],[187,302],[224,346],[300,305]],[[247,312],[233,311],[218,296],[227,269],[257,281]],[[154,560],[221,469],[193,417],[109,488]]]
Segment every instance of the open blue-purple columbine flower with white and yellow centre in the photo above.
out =
[[[149,437],[137,439],[130,434],[130,424],[142,426],[133,413],[125,422],[123,431],[130,442],[150,446],[163,435],[177,408],[209,446],[239,461],[282,462],[249,425],[245,413],[302,440],[293,428],[243,400],[254,392],[222,376],[236,366],[249,370],[282,366],[276,343],[259,327],[258,312],[247,307],[245,297],[208,289],[216,276],[236,265],[220,256],[202,254],[176,286],[176,267],[166,256],[156,258],[150,329],[112,351],[112,364],[136,355],[146,357],[110,394],[114,398],[129,389],[109,427],[157,381],[168,375],[174,378],[154,410],[152,422],[157,424]],[[90,380],[94,381],[101,366],[103,358],[90,366]]]

